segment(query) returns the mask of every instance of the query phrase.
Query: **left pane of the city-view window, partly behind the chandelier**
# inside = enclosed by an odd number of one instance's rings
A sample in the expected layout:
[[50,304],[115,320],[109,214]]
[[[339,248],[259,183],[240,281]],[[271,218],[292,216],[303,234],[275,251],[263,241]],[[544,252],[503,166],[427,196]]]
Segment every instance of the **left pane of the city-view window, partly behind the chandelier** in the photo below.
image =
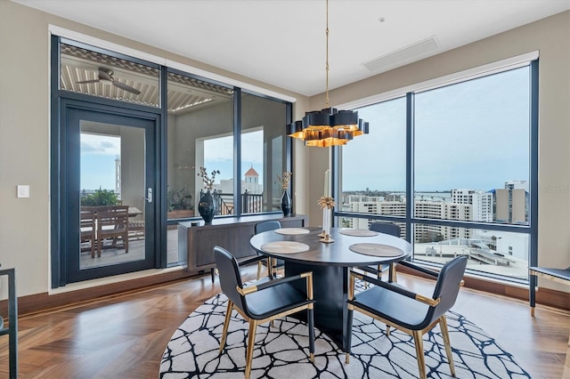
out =
[[[373,127],[342,149],[338,204],[348,214],[382,214],[394,217],[405,238],[406,98],[358,109]],[[401,220],[399,220],[401,219]],[[368,229],[371,219],[342,217],[340,226]]]

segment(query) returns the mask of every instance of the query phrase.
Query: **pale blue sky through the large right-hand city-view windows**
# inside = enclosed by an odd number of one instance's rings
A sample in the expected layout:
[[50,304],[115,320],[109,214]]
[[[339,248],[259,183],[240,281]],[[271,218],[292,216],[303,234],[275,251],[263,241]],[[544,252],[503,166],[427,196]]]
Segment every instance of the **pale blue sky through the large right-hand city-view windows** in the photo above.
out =
[[[417,191],[503,188],[528,181],[529,70],[415,95]],[[405,189],[405,99],[359,109],[371,133],[343,147],[343,190]]]

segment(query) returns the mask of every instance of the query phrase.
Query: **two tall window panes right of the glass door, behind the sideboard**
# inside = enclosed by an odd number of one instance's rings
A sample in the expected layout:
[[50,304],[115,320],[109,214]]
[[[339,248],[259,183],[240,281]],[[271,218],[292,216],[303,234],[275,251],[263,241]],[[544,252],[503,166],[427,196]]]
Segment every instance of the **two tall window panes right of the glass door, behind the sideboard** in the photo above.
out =
[[213,181],[216,217],[280,210],[272,175],[291,165],[290,113],[286,101],[168,71],[167,264],[178,262],[177,223],[199,220],[202,167]]

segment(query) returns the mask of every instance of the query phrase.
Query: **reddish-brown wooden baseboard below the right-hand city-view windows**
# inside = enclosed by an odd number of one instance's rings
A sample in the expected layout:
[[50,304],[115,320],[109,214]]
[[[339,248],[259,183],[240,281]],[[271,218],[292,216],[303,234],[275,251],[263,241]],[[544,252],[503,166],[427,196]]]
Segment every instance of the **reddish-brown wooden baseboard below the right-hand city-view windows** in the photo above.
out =
[[[427,275],[421,275],[418,271],[411,270],[410,268],[402,265],[398,266],[397,271],[422,278],[430,278]],[[501,294],[514,299],[524,300],[526,302],[529,301],[528,287],[510,286],[506,283],[498,283],[483,278],[466,277],[464,278],[464,281],[466,288],[475,289],[489,294]],[[560,310],[570,310],[570,294],[563,291],[541,287],[539,291],[536,291],[536,303],[558,308]]]

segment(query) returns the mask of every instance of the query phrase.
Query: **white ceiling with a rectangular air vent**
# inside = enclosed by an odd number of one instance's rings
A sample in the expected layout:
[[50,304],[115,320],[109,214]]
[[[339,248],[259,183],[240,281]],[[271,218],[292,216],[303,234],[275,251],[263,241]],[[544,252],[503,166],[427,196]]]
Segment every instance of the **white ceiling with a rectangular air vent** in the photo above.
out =
[[[12,0],[308,96],[325,0]],[[570,0],[330,0],[329,89],[570,9]]]

